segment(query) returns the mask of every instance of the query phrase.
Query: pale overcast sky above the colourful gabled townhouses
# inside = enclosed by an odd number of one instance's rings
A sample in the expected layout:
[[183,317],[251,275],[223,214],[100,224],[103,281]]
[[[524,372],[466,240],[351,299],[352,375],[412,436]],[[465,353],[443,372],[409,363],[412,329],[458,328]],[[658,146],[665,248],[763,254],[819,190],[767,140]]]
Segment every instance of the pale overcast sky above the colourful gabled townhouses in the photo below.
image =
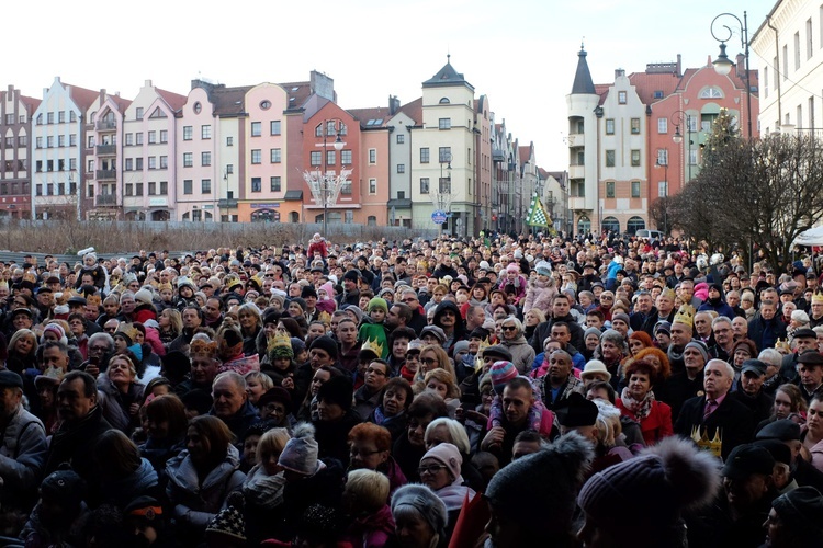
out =
[[[595,83],[677,54],[684,68],[699,67],[718,53],[715,15],[748,10],[751,35],[775,1],[9,2],[0,84],[41,98],[60,76],[133,99],[146,79],[188,94],[199,76],[251,85],[307,80],[316,69],[334,78],[343,109],[361,109],[385,106],[390,94],[402,103],[420,96],[451,53],[475,96],[486,94],[497,121],[521,145],[534,141],[539,165],[554,171],[567,168],[565,95],[580,42]],[[735,36],[730,57],[740,50]],[[752,68],[763,64],[753,52]]]

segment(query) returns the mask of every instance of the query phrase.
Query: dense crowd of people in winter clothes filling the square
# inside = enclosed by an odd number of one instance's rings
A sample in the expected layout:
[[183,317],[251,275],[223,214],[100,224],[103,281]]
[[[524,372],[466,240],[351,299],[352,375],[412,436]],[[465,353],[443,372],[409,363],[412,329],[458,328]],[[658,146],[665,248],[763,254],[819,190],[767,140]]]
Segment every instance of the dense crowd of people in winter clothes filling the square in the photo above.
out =
[[0,544],[823,546],[821,276],[704,251],[0,263]]

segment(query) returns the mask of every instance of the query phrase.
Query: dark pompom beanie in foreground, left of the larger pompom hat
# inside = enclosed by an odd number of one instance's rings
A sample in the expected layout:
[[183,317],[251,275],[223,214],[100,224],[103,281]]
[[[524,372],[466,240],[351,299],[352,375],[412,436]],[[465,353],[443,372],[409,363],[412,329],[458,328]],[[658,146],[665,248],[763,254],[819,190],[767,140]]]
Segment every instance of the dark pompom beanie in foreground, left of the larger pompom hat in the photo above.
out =
[[[575,511],[575,495],[594,457],[591,444],[576,432],[545,449],[501,468],[488,483],[493,512],[538,534],[565,532]],[[529,512],[523,512],[523,501]],[[535,518],[535,516],[540,516]]]

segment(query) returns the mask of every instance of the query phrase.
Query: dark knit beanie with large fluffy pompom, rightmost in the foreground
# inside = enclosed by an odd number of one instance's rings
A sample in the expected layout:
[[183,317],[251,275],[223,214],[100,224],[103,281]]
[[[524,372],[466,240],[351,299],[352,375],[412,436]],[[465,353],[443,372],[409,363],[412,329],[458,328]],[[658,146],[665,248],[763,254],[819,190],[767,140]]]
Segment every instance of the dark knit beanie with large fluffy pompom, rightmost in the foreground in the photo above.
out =
[[681,511],[710,503],[720,484],[719,463],[710,453],[667,437],[594,475],[577,502],[612,535],[629,528],[663,532],[679,521]]

